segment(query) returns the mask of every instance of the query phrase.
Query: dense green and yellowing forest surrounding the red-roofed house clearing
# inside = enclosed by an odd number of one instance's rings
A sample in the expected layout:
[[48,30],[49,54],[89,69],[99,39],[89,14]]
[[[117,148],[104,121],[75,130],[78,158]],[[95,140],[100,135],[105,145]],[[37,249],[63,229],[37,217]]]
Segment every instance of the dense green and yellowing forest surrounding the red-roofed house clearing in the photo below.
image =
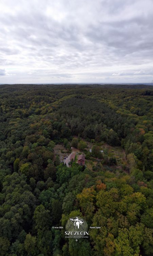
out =
[[[57,145],[94,166],[68,168]],[[65,238],[73,216],[88,239]],[[0,256],[152,256],[152,234],[152,86],[0,85]]]

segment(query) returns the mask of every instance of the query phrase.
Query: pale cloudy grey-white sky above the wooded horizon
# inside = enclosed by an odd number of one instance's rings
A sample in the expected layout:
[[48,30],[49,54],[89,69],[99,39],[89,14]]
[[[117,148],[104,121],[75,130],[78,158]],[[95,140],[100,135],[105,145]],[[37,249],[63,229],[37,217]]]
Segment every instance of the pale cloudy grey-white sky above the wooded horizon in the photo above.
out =
[[150,83],[153,0],[0,0],[0,83]]

